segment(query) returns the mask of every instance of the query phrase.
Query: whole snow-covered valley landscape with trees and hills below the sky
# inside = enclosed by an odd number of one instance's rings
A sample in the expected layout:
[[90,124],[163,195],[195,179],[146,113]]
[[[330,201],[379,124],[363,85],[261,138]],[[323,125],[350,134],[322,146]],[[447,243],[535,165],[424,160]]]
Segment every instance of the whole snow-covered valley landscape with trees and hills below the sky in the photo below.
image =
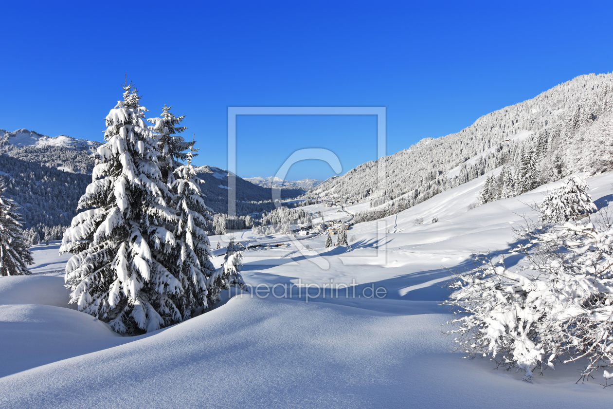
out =
[[[380,159],[384,186],[377,162],[281,201],[237,176],[235,215],[229,173],[192,166],[183,117],[145,117],[131,85],[104,143],[2,131],[0,407],[607,407],[612,98],[613,74],[574,78]],[[475,275],[479,254],[504,268]],[[568,277],[576,303],[530,298]],[[541,342],[552,305],[589,321],[592,372]]]

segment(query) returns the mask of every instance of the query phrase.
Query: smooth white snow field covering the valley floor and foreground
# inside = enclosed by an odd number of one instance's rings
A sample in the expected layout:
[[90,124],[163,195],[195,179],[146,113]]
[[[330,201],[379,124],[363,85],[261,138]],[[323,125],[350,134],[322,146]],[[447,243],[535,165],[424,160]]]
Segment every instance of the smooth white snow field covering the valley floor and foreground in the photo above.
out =
[[[484,180],[384,225],[353,226],[351,251],[324,248],[324,235],[295,243],[237,232],[237,239],[291,245],[243,253],[251,294],[140,337],[116,335],[66,305],[58,270],[67,256],[57,255],[59,243],[37,246],[33,276],[0,278],[0,407],[608,407],[613,391],[601,386],[601,372],[576,384],[582,362],[528,384],[521,373],[450,352],[441,334],[450,315],[438,305],[448,294],[447,269],[470,268],[474,252],[507,251],[512,227],[524,214],[535,218],[527,204],[561,184],[467,210]],[[613,200],[612,182],[613,174],[588,179],[598,207]],[[367,207],[307,210],[329,221]],[[424,224],[414,226],[416,218]],[[213,245],[228,239],[210,237]],[[310,297],[298,284],[310,285]],[[330,291],[337,285],[355,287],[337,297]]]

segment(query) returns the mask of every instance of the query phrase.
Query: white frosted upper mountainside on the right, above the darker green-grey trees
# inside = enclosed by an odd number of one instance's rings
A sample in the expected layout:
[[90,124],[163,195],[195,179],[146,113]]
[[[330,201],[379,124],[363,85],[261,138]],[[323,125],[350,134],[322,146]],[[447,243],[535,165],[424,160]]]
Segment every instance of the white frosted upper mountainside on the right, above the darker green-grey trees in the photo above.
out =
[[[599,151],[597,146],[607,143],[600,140],[606,129],[611,128],[607,121],[612,121],[612,90],[611,73],[580,75],[532,99],[488,113],[457,133],[422,139],[406,150],[361,164],[341,177],[329,178],[311,189],[308,195],[345,199],[367,197],[379,188],[379,164],[384,162],[386,196],[395,199],[414,191],[426,198],[464,182],[463,178],[454,182],[450,177],[459,175],[460,166],[467,159],[467,164],[471,165],[483,156],[482,166],[487,169],[480,169],[480,174],[481,170],[491,170],[507,162],[509,157],[501,156],[509,156],[510,146],[521,145],[532,150],[533,142],[539,139],[539,149],[547,145],[544,153],[562,158],[570,172],[599,167],[600,164],[593,164],[591,151]],[[593,127],[597,121],[601,121],[598,126],[603,127],[602,130]],[[607,124],[602,125],[604,123]],[[586,136],[586,132],[591,132],[590,136]],[[543,143],[544,140],[547,142]],[[578,157],[577,153],[580,153]],[[517,160],[513,159],[511,165],[516,166]],[[544,159],[539,157],[538,160]],[[543,165],[546,169],[546,164]]]

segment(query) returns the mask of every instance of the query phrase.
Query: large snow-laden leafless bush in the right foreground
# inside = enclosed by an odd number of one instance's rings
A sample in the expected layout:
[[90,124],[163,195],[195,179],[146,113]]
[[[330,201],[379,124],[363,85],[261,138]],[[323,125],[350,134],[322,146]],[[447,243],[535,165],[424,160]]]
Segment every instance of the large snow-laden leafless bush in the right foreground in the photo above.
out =
[[504,367],[535,370],[587,359],[587,377],[613,362],[613,226],[600,223],[528,225],[515,253],[525,262],[511,271],[503,256],[476,256],[480,266],[460,273],[444,304],[460,318],[455,348],[466,357],[490,356]]

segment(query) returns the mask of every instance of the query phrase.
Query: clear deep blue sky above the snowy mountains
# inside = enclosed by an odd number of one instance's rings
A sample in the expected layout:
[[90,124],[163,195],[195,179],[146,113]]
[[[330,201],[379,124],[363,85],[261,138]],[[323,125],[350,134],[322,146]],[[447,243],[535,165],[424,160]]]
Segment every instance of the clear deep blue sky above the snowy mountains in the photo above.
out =
[[[466,3],[466,4],[465,4]],[[385,106],[387,153],[590,72],[613,71],[613,2],[4,2],[0,128],[102,140],[124,72],[150,115],[227,168],[228,106]],[[376,159],[374,117],[242,117],[237,170],[299,148],[343,173]],[[288,178],[326,178],[306,161]]]

